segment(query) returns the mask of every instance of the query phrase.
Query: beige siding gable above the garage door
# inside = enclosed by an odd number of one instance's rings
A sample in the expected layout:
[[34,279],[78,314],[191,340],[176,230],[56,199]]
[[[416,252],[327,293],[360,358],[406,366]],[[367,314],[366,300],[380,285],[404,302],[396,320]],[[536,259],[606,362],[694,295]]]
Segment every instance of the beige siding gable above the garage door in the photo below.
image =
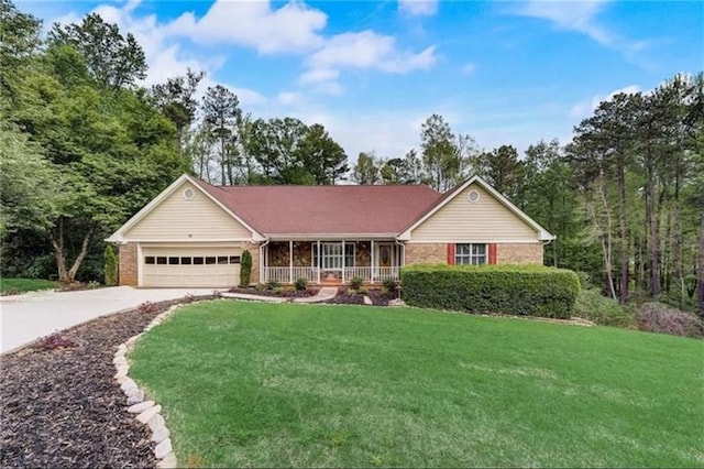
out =
[[[184,198],[190,188],[194,197]],[[128,240],[245,240],[252,232],[233,219],[199,188],[184,183],[154,207],[144,218],[124,232]]]

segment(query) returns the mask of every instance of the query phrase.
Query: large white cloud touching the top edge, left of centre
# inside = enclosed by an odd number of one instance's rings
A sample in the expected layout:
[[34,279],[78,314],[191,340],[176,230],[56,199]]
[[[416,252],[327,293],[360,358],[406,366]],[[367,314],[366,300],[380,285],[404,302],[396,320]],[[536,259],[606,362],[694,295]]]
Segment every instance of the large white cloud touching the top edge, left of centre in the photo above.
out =
[[184,13],[170,31],[201,44],[249,46],[261,54],[300,53],[322,44],[318,31],[327,21],[322,11],[295,0],[280,8],[268,0],[217,0],[200,19]]

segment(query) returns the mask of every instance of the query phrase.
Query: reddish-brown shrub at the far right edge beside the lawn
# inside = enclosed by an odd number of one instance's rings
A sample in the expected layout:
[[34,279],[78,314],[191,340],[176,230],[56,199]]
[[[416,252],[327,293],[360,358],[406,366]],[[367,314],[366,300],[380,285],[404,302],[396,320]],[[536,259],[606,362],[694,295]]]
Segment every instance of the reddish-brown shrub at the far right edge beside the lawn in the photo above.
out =
[[638,308],[638,326],[650,332],[683,337],[704,337],[704,321],[694,314],[674,309],[662,303],[644,303]]

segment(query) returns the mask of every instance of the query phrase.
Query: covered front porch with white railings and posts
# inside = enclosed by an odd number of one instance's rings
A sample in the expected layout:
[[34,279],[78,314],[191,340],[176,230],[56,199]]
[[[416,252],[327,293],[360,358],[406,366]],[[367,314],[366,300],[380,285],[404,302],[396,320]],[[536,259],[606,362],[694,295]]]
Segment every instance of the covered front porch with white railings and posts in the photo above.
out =
[[262,247],[261,283],[374,284],[398,280],[404,246],[394,240],[271,241]]

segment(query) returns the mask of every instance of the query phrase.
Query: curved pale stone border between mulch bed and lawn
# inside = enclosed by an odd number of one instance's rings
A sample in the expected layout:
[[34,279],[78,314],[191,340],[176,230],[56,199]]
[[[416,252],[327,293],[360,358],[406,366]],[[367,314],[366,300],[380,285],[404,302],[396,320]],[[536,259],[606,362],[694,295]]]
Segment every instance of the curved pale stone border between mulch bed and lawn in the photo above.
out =
[[[169,314],[179,305],[174,305],[166,312],[156,316],[145,328],[144,332],[152,329],[154,326],[158,326]],[[129,338],[124,343],[118,346],[118,351],[114,353],[112,362],[116,366],[117,373],[114,375],[116,381],[120,384],[120,389],[128,397],[128,412],[134,414],[138,422],[144,425],[148,425],[152,430],[152,441],[154,443],[154,456],[158,459],[157,468],[176,468],[178,463],[176,461],[176,455],[172,449],[172,439],[169,438],[168,428],[164,417],[160,414],[162,406],[154,401],[144,400],[144,390],[128,377],[130,370],[130,363],[127,359],[127,353],[132,349],[134,343],[142,337],[140,332],[134,337]]]

